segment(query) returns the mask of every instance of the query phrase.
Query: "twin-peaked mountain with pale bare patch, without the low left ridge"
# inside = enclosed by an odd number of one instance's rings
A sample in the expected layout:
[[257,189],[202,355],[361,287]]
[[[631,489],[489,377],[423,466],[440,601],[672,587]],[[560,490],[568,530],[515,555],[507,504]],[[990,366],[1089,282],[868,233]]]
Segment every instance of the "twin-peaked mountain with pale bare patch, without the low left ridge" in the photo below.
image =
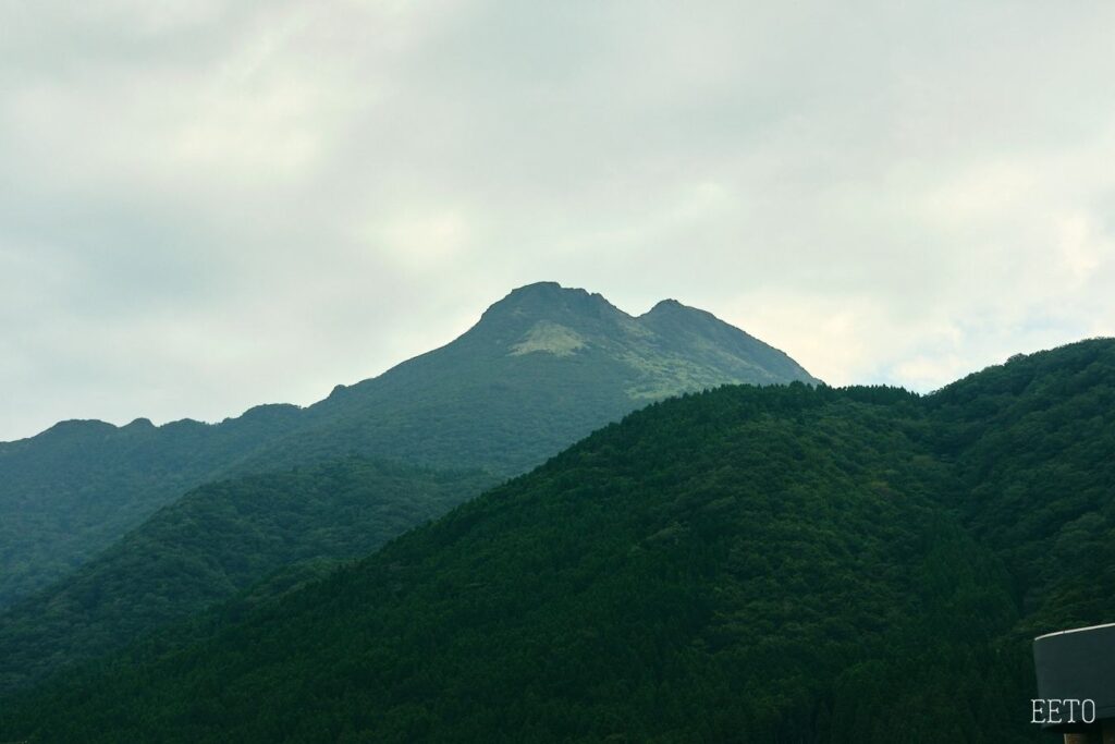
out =
[[531,284],[453,344],[306,412],[307,427],[261,453],[285,463],[359,452],[521,473],[647,403],[733,383],[817,381],[793,359],[672,300],[638,318],[600,294]]

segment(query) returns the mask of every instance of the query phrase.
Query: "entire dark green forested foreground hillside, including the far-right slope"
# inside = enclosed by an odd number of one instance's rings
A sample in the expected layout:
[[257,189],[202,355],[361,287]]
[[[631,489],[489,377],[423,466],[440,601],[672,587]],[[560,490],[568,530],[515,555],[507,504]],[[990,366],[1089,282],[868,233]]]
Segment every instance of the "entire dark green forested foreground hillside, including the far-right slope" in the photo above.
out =
[[1036,741],[1030,638],[1115,619],[1113,404],[1111,340],[924,397],[653,404],[323,580],[4,700],[0,736]]

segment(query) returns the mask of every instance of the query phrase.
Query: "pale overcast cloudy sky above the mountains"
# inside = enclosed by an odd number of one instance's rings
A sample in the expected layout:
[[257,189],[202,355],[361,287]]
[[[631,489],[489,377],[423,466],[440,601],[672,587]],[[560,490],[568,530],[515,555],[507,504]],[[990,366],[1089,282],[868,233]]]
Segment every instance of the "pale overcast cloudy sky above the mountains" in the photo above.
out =
[[0,439],[310,404],[512,288],[830,384],[1115,335],[1115,3],[0,0]]

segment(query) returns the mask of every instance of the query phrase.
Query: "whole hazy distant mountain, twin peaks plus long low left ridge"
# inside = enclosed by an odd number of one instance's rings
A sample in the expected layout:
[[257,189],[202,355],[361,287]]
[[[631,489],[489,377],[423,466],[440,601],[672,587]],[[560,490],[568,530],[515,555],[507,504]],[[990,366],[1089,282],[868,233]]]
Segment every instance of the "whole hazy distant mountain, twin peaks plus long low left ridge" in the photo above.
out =
[[507,475],[650,400],[813,378],[712,316],[633,318],[599,294],[523,287],[452,344],[299,408],[207,425],[66,422],[0,444],[0,608],[72,571],[185,491],[358,454]]

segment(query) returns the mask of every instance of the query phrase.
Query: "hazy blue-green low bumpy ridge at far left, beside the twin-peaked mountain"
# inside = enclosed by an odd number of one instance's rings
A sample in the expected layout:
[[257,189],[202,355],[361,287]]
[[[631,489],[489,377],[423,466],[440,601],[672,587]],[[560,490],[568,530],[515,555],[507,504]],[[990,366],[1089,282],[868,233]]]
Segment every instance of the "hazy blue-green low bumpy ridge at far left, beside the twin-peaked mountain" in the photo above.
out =
[[294,406],[220,426],[64,422],[0,443],[0,609],[71,572],[159,506],[292,427]]

